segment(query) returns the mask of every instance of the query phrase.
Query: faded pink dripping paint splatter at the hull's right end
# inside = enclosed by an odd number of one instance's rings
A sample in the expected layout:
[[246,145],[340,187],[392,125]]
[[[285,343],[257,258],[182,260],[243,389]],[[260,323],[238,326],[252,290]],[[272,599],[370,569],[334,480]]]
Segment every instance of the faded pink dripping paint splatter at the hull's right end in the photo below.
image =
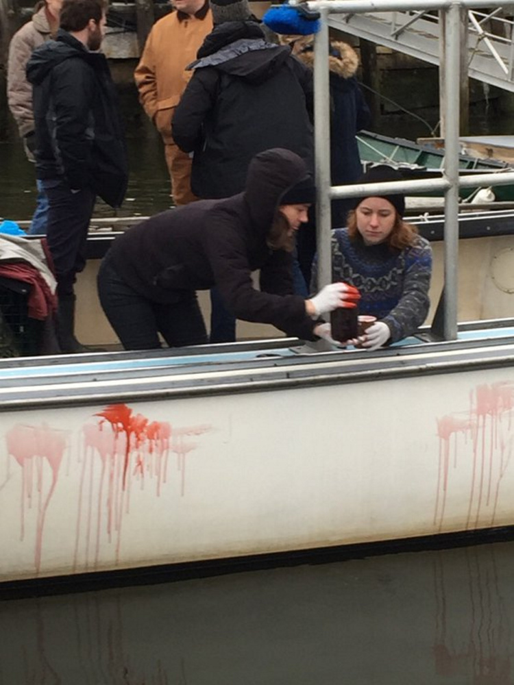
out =
[[[439,469],[434,525],[439,530],[444,523],[452,472],[459,484],[467,479],[466,527],[494,523],[500,483],[513,448],[513,408],[514,384],[502,382],[475,388],[465,414],[449,414],[438,419]],[[461,458],[464,455],[469,458]]]

